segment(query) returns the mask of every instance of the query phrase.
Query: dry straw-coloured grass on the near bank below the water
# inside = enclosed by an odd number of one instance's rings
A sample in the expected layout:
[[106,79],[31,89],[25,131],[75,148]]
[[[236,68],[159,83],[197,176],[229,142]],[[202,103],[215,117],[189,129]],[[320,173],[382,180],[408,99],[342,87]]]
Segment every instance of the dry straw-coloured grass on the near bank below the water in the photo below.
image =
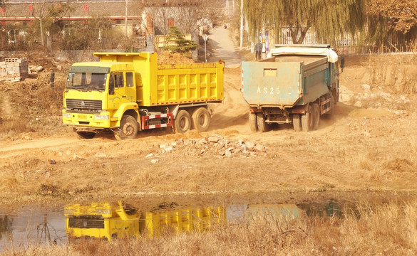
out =
[[417,201],[359,204],[344,218],[292,218],[260,213],[205,233],[158,238],[76,240],[68,245],[31,245],[2,255],[415,255]]

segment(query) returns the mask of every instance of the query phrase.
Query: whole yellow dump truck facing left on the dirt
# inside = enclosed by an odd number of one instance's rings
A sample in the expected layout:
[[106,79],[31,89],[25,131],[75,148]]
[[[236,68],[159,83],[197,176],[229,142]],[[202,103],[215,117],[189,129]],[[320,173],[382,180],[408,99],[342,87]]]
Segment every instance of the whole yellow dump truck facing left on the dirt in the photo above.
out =
[[83,139],[106,129],[116,139],[161,127],[204,132],[208,104],[223,100],[222,62],[158,65],[156,53],[93,55],[100,61],[71,65],[63,92],[63,124]]

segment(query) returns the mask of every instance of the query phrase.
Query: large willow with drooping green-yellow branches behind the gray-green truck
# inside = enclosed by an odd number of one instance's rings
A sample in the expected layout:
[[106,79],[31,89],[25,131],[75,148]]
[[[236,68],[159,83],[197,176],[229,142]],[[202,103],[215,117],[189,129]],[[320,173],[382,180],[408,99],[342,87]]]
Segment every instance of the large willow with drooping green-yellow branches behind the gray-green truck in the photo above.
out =
[[354,37],[366,21],[366,0],[243,1],[252,39],[262,28],[274,28],[276,35],[288,28],[293,43],[302,43],[307,31],[314,29],[317,39],[332,43],[346,34]]

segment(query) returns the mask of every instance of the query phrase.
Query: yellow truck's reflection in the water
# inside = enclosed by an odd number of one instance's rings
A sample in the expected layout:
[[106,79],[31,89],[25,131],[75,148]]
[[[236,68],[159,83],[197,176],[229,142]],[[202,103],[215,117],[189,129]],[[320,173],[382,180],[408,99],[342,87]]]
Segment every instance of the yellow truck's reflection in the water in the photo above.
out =
[[163,209],[151,212],[129,212],[119,202],[91,203],[66,206],[66,233],[73,238],[123,238],[147,233],[158,236],[165,228],[177,233],[205,231],[213,225],[226,223],[226,210],[222,207],[192,208],[185,210]]

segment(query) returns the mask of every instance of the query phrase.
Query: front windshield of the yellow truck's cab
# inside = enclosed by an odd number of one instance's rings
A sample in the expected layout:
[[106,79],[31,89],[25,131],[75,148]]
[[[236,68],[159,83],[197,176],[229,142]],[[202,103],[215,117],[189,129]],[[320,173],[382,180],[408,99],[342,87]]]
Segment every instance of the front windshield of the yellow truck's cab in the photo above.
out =
[[69,73],[66,89],[104,91],[106,77],[100,73]]

